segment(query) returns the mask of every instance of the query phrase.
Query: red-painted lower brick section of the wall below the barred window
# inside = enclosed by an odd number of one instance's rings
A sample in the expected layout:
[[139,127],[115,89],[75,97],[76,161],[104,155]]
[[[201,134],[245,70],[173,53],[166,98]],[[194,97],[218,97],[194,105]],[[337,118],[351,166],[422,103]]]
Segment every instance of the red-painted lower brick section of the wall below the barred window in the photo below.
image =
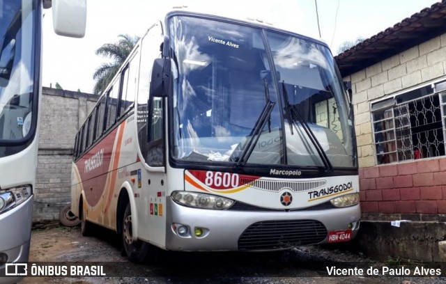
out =
[[364,213],[445,214],[446,158],[360,169]]

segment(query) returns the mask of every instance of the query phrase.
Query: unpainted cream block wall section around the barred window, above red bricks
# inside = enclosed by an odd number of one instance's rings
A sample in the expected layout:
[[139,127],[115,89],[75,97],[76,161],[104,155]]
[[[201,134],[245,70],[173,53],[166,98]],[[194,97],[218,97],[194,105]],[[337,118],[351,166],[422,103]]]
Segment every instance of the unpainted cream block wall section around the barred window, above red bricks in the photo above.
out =
[[376,166],[370,102],[445,75],[446,34],[443,34],[346,78],[353,88],[360,168]]

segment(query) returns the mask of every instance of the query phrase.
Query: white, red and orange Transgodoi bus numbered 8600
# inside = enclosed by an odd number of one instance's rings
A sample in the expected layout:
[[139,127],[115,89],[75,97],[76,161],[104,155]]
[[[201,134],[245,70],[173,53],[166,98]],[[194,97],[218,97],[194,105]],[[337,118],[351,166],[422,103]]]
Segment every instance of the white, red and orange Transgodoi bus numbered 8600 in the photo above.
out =
[[130,260],[344,242],[360,224],[351,98],[328,46],[174,10],[75,140],[72,211]]

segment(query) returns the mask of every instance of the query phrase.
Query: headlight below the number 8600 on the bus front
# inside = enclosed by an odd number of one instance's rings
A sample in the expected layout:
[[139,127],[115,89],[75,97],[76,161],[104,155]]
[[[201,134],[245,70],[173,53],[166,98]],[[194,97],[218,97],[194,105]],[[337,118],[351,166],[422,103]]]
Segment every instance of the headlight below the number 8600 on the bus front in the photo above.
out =
[[203,209],[223,210],[231,207],[234,203],[233,200],[222,196],[190,191],[174,191],[171,196],[176,203]]

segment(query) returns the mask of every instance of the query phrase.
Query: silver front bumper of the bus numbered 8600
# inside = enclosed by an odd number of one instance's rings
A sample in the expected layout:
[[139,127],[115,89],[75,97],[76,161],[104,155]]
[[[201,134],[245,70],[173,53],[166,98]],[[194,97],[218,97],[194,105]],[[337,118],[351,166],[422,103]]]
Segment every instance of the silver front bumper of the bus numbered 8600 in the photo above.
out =
[[[264,221],[316,221],[322,223],[327,232],[348,230],[348,225],[353,224],[350,238],[353,239],[359,229],[360,215],[360,205],[332,210],[252,212],[203,210],[178,205],[167,198],[165,248],[172,251],[240,251],[238,241],[243,232],[252,224]],[[181,237],[178,234],[180,226],[190,230],[189,234]],[[197,237],[195,228],[203,228],[203,234]],[[328,234],[314,244],[327,242]],[[265,250],[268,251],[270,248]]]

